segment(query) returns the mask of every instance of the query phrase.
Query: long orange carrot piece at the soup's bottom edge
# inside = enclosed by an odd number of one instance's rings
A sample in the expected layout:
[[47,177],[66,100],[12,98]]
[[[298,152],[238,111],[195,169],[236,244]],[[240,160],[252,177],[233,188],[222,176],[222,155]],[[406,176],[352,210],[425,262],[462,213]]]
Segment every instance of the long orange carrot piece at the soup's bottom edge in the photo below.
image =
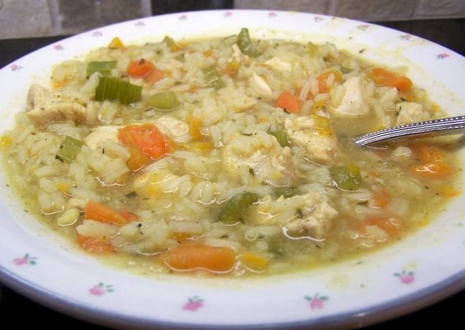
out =
[[236,262],[236,255],[227,247],[183,243],[161,253],[159,259],[173,270],[203,269],[210,272],[229,272]]

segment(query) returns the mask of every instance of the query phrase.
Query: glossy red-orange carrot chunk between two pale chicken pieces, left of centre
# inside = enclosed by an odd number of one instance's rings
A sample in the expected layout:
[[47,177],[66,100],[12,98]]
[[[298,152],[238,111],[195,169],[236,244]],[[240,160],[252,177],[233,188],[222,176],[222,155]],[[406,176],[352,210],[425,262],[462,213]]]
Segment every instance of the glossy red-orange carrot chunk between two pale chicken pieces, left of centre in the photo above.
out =
[[168,149],[165,136],[152,124],[129,125],[118,131],[123,144],[132,144],[153,160],[165,155]]

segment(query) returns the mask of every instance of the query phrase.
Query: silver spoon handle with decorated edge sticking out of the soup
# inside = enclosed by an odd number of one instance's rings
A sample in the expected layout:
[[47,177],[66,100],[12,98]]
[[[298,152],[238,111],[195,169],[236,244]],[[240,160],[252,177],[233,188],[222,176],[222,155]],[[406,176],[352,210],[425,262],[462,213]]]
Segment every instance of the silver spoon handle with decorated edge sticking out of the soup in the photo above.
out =
[[[428,134],[429,133],[429,134]],[[383,142],[385,140],[406,139],[412,137],[421,138],[420,134],[425,137],[438,135],[452,135],[465,133],[465,116],[449,117],[436,120],[422,121],[373,131],[369,134],[357,136],[354,143],[359,147],[364,145]]]

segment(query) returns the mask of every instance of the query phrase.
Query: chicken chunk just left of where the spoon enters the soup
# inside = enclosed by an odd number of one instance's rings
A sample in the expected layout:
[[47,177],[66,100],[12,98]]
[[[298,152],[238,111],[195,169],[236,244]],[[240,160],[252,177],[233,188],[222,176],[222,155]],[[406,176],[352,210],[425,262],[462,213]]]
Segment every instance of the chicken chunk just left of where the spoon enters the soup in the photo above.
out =
[[337,140],[328,125],[327,118],[322,116],[287,118],[284,127],[291,142],[304,149],[311,161],[324,165],[338,162]]

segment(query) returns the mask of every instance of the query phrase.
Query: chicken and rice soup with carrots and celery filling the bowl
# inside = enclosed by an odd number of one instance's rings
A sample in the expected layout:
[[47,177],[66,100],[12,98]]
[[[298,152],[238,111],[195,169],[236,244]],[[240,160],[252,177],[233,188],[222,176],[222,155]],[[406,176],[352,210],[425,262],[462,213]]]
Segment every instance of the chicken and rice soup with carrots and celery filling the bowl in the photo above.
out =
[[26,209],[90,253],[154,272],[321,266],[403,238],[458,194],[448,144],[351,142],[444,116],[407,74],[248,29],[114,38],[30,87],[4,162]]

